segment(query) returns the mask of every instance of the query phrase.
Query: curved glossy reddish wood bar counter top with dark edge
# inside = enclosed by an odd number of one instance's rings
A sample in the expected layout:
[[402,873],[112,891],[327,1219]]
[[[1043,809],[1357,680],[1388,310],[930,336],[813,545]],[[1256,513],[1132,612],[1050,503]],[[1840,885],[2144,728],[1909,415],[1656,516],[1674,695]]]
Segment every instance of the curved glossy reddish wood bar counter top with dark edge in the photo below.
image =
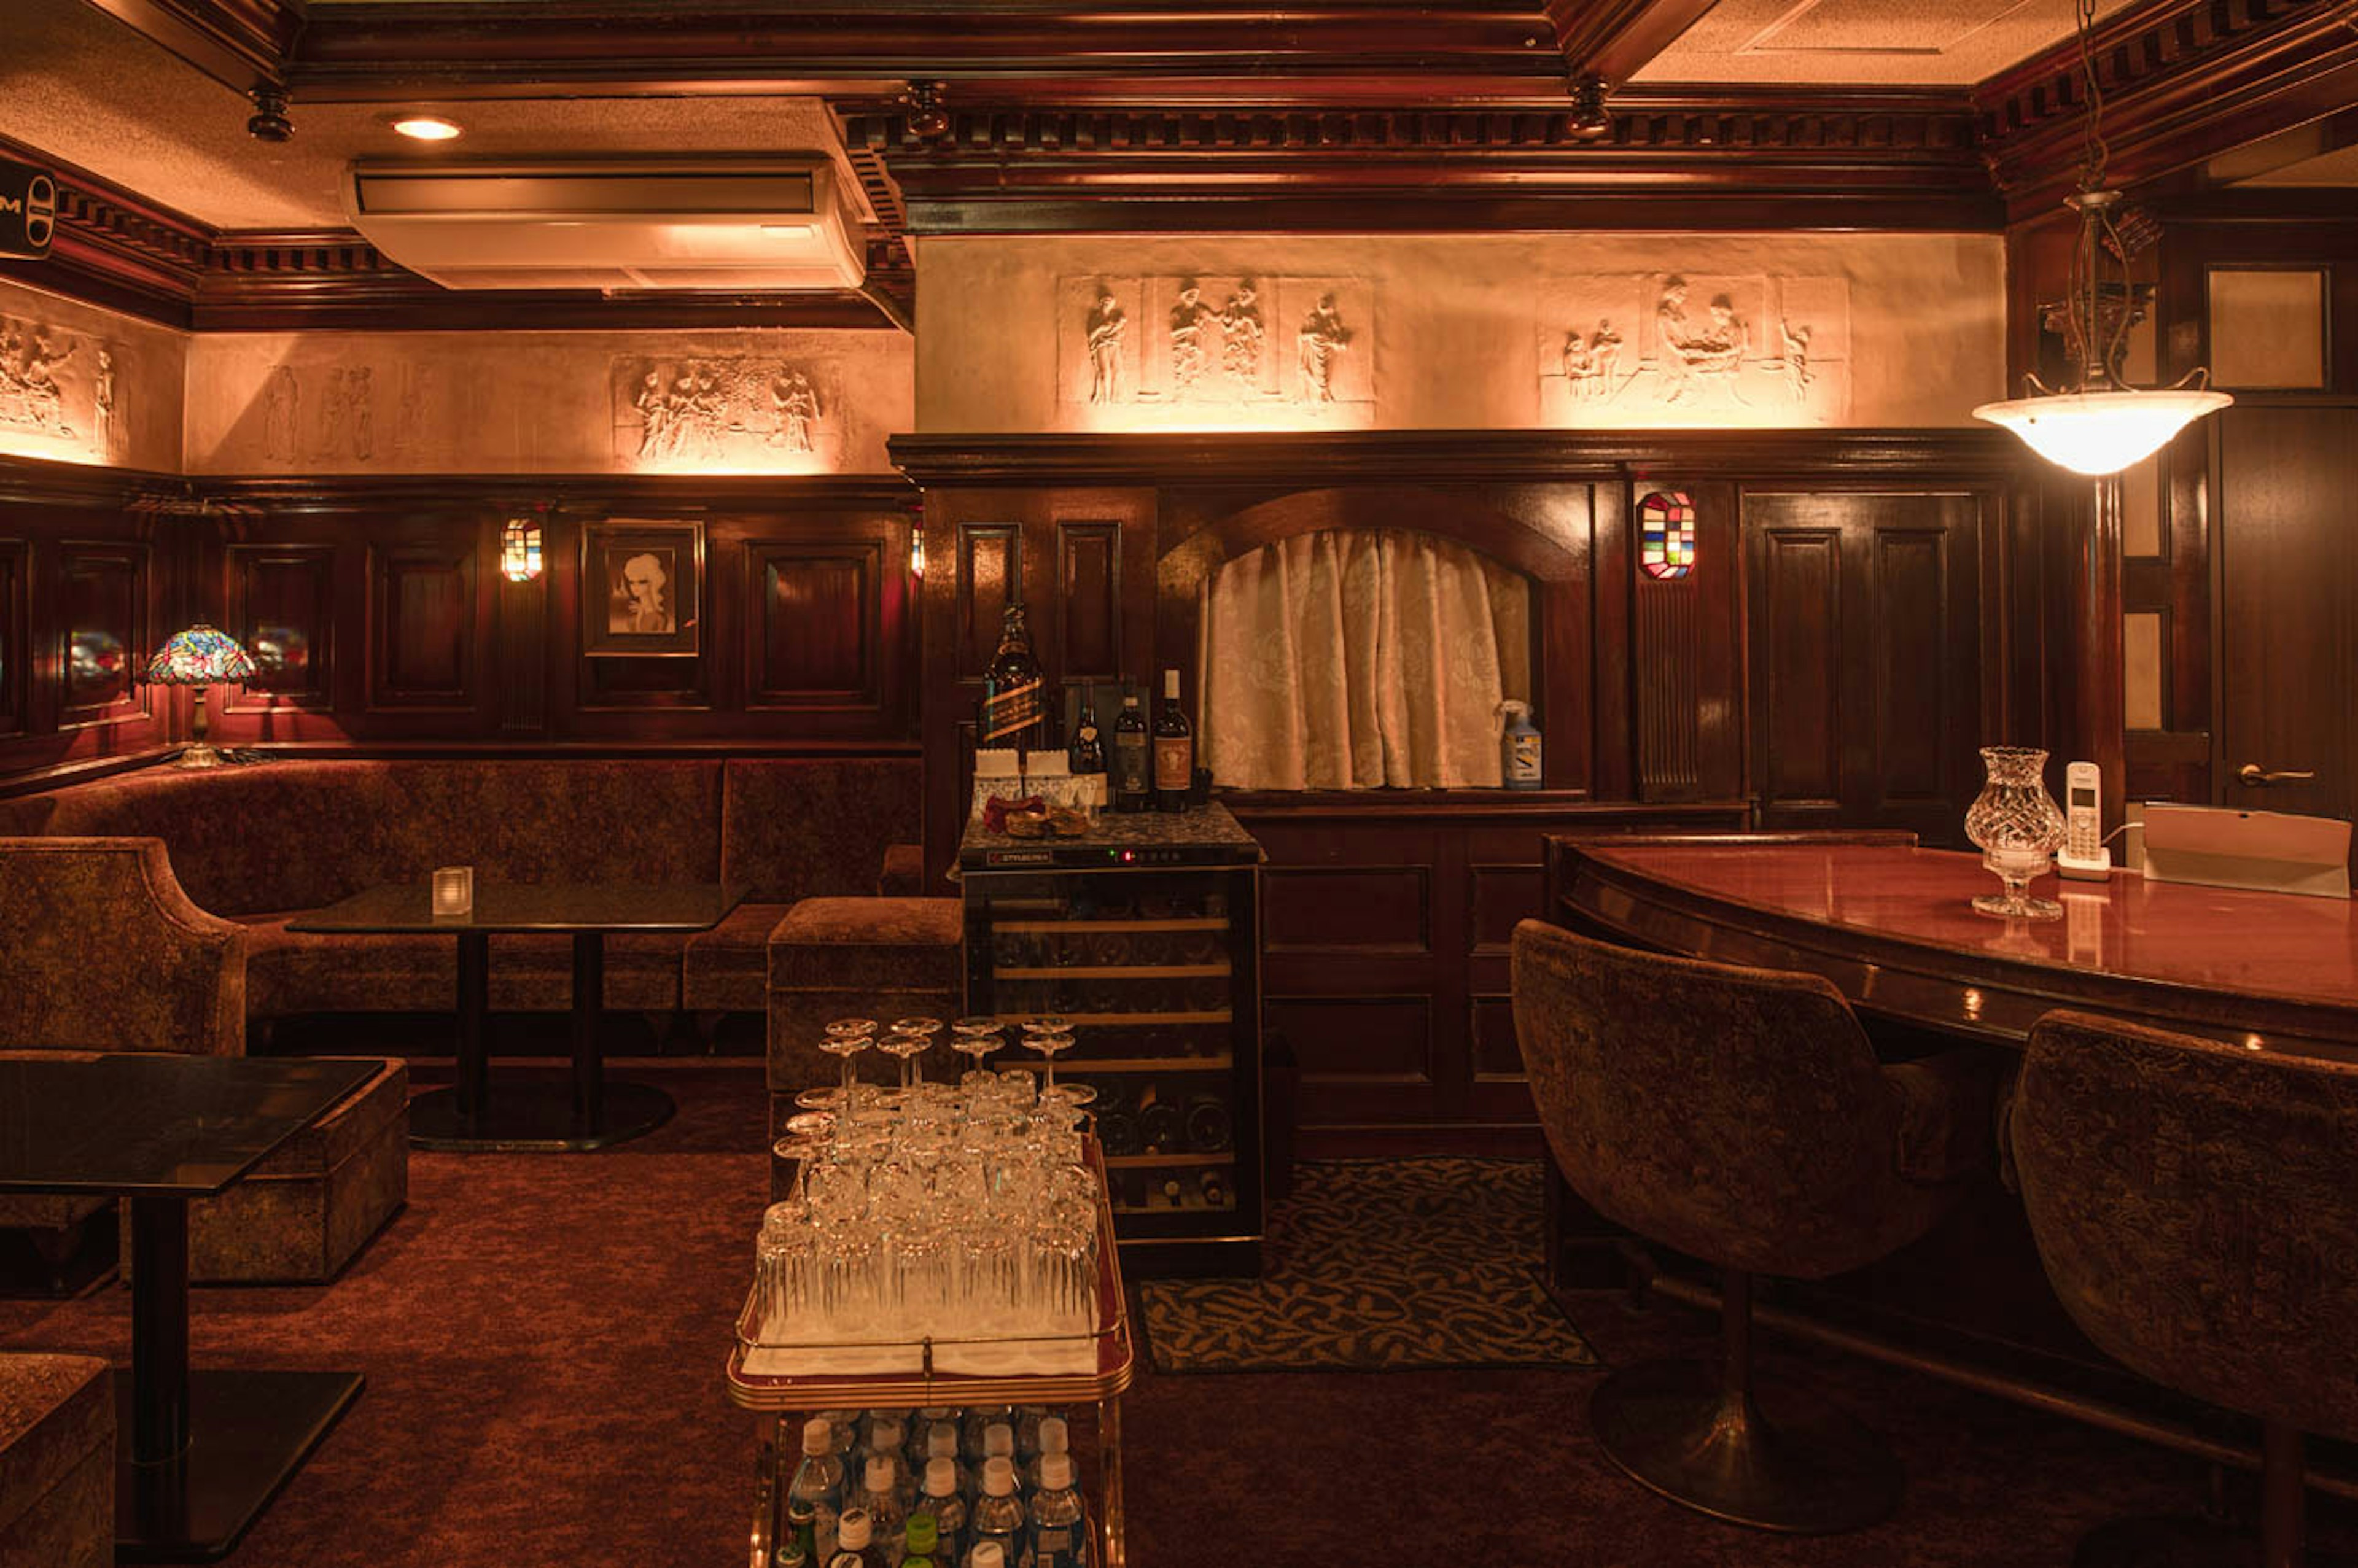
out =
[[2042,877],[2063,920],[1993,920],[1981,856],[1903,835],[1549,839],[1556,920],[1830,979],[1853,1007],[2011,1040],[2051,1007],[2252,1049],[2358,1059],[2358,915],[2344,898]]

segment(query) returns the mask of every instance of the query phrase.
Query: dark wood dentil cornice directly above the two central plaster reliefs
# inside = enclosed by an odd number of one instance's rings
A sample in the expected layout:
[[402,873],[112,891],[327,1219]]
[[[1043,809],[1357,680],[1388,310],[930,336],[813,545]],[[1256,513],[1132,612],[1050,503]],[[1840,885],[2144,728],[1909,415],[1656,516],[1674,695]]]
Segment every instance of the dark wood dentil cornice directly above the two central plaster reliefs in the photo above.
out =
[[964,106],[844,116],[913,233],[1997,229],[1950,92],[1627,90],[1601,139],[1561,108]]

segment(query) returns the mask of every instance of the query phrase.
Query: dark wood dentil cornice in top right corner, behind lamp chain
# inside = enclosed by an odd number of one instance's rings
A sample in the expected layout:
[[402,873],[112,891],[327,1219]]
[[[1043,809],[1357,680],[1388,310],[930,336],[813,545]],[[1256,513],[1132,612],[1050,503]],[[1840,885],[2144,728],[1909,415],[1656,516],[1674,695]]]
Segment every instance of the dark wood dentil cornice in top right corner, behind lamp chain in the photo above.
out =
[[[2136,186],[2358,104],[2358,0],[2158,0],[2096,28],[2108,184]],[[2087,87],[2066,40],[1974,90],[2016,219],[2080,179]]]

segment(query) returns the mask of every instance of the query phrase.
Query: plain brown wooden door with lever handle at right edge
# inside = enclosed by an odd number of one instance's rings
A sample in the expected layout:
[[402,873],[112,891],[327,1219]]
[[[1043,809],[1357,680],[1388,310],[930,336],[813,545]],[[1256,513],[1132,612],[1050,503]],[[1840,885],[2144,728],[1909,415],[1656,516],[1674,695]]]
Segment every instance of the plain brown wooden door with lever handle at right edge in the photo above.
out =
[[[2358,738],[2358,408],[2219,415],[2221,806],[2349,818]],[[2259,773],[2316,773],[2245,783]]]

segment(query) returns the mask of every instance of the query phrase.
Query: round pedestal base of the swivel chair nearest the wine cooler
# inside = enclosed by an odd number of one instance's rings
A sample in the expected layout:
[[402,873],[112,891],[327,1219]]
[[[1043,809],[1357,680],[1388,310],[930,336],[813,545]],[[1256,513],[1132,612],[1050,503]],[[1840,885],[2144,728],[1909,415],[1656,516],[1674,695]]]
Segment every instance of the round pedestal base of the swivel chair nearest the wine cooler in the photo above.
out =
[[1726,1391],[1719,1368],[1644,1363],[1589,1396],[1589,1427],[1634,1481],[1712,1518],[1835,1535],[1898,1507],[1905,1485],[1889,1445],[1830,1408],[1761,1417]]

